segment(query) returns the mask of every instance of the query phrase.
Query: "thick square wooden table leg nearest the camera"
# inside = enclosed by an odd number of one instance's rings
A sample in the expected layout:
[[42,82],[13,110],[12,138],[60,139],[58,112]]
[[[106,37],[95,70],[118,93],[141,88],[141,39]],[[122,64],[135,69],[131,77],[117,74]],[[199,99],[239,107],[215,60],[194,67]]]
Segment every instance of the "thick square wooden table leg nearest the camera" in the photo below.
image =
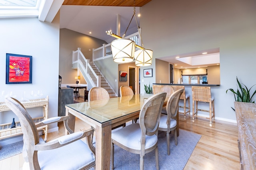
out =
[[96,170],[110,169],[111,126],[96,126]]

